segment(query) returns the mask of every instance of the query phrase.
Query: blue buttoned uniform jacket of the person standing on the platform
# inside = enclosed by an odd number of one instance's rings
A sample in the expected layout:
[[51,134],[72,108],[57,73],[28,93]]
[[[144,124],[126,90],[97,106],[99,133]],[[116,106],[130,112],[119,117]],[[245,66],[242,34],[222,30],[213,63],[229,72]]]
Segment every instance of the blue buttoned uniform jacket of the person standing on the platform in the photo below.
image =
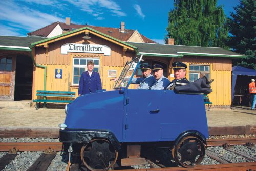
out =
[[93,71],[91,77],[88,71],[82,72],[79,81],[78,94],[90,94],[101,89],[101,79],[98,72]]

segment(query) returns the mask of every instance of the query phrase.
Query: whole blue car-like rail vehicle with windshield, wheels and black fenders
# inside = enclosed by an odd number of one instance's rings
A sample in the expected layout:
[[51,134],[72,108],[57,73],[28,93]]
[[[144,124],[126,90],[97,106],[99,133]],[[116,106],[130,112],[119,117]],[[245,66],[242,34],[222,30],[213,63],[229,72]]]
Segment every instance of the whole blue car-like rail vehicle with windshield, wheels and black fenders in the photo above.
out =
[[89,170],[109,170],[124,146],[140,150],[151,144],[167,145],[181,166],[201,163],[208,138],[203,95],[129,89],[141,60],[142,55],[126,63],[114,90],[82,95],[66,105],[59,140],[69,146],[69,162],[78,149]]

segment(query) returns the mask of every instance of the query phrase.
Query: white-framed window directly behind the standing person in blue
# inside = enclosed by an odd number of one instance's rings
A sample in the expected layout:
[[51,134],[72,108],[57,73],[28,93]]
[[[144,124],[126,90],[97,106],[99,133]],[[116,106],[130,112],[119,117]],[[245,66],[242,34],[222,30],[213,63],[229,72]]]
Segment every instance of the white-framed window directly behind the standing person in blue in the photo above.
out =
[[73,58],[73,85],[79,85],[82,72],[87,71],[87,62],[93,61],[94,71],[99,72],[99,58]]

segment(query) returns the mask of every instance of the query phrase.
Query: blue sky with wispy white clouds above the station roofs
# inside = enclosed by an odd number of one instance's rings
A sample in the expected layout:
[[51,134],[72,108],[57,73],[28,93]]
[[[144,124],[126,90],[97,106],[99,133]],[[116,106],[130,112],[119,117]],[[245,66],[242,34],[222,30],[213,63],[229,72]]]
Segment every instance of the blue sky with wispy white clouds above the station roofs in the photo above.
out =
[[[239,0],[218,0],[225,14],[239,4]],[[0,35],[26,36],[28,32],[50,23],[65,22],[137,29],[144,36],[163,43],[172,0],[24,0],[0,1]]]

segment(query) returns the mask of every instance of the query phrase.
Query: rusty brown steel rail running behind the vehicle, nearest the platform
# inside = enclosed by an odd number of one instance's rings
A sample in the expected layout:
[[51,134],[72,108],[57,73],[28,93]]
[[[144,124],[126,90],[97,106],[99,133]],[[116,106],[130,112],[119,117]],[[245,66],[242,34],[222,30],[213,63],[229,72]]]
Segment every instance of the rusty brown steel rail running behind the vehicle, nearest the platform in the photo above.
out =
[[[208,139],[208,146],[256,144],[256,138]],[[18,151],[62,151],[62,142],[0,142],[0,151],[16,149]]]

